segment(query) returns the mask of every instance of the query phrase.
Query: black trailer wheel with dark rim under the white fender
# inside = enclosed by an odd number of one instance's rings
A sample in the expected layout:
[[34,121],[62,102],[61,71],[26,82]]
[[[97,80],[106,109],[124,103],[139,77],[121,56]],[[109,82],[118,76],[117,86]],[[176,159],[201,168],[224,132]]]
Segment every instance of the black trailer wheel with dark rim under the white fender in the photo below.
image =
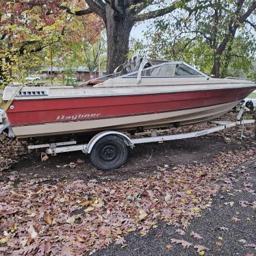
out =
[[92,164],[100,170],[116,169],[127,159],[127,145],[118,136],[105,136],[93,146],[90,152]]

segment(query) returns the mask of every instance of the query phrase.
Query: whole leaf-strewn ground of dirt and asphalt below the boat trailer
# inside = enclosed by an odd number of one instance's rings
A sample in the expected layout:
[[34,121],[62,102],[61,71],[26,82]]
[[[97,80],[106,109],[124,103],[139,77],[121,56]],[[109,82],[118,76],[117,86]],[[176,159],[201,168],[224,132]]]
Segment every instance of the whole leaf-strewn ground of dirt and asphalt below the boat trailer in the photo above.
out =
[[107,172],[82,153],[17,153],[0,172],[0,255],[253,255],[255,127],[241,129],[136,146]]

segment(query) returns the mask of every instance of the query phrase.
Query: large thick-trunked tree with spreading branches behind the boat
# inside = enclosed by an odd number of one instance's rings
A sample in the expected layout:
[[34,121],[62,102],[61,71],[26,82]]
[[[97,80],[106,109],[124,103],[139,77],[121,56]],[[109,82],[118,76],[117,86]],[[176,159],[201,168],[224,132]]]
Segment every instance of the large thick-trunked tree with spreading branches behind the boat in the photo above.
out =
[[[176,0],[170,3],[166,0],[20,0],[19,2],[40,5],[47,9],[50,2],[76,16],[92,13],[99,15],[107,30],[107,73],[112,73],[116,66],[127,60],[129,35],[133,25],[171,13],[177,8],[183,8],[190,1]],[[83,4],[84,8],[81,9]]]

